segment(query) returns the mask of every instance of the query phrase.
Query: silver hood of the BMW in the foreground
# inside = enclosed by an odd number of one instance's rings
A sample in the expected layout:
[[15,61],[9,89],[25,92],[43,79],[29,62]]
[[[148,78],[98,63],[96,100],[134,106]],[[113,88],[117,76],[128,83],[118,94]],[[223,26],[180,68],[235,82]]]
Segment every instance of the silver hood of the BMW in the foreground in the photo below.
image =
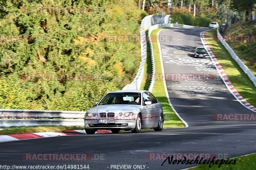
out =
[[124,113],[132,112],[133,110],[139,108],[140,105],[101,105],[96,106],[88,110],[89,113]]

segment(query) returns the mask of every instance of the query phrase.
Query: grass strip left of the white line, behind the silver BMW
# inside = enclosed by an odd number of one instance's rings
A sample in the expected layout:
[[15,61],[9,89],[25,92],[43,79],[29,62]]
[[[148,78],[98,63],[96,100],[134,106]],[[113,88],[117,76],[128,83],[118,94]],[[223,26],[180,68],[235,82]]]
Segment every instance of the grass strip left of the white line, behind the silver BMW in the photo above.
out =
[[[162,75],[162,67],[159,55],[159,48],[157,44],[156,35],[158,31],[163,28],[159,28],[153,30],[151,33],[151,41],[153,44],[154,51],[154,61],[155,61],[155,74]],[[154,83],[152,93],[156,96],[157,100],[159,100],[163,106],[165,120],[164,120],[164,128],[181,128],[185,127],[184,123],[177,117],[177,115],[172,110],[171,106],[166,97],[165,89],[164,89],[164,81],[157,80]]]

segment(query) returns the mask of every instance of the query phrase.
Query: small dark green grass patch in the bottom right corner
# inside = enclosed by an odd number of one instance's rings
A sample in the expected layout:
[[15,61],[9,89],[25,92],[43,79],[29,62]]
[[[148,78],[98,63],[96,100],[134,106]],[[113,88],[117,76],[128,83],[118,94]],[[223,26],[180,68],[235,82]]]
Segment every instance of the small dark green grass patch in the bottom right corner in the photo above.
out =
[[[211,170],[222,170],[222,169],[229,169],[229,170],[238,170],[238,169],[254,169],[256,168],[256,153],[247,155],[247,156],[240,156],[235,158],[236,164],[234,165],[228,165],[224,164],[218,167],[219,165],[213,165],[211,168],[209,168],[209,165],[199,165],[194,168],[191,168],[191,170],[202,170],[202,169],[211,169]],[[233,160],[235,160],[233,159]],[[215,159],[216,160],[216,159]]]

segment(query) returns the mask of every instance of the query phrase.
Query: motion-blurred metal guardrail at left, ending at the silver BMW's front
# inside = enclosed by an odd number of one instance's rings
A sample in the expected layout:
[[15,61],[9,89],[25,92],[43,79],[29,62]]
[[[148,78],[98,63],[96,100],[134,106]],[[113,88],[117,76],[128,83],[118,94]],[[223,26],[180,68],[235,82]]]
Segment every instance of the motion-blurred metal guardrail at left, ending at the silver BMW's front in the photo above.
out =
[[0,109],[0,128],[29,126],[84,126],[86,112]]

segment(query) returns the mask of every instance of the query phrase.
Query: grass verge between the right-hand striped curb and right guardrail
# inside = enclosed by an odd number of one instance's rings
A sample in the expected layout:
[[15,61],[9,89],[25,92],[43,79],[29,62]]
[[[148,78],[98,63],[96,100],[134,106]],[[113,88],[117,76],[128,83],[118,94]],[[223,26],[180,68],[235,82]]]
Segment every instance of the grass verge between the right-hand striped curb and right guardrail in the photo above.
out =
[[216,29],[205,32],[204,36],[209,47],[212,49],[212,52],[217,57],[236,90],[244,97],[245,100],[253,106],[256,106],[255,86],[236,61],[229,55],[221,42],[217,42],[217,40],[213,38],[217,37]]

